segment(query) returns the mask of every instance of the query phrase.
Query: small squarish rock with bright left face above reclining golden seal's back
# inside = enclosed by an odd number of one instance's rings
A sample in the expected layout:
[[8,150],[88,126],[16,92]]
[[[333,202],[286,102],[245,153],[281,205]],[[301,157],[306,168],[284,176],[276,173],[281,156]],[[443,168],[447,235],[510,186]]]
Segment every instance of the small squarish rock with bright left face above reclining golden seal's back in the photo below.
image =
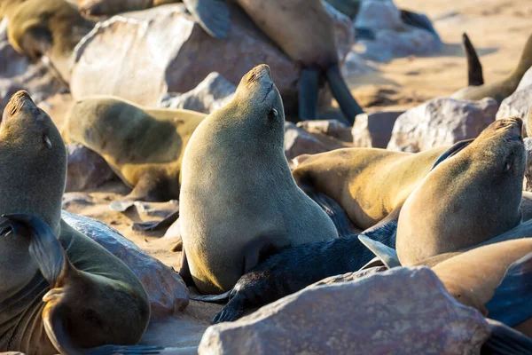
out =
[[386,148],[395,120],[403,111],[382,111],[357,114],[351,130],[355,146],[366,148]]

